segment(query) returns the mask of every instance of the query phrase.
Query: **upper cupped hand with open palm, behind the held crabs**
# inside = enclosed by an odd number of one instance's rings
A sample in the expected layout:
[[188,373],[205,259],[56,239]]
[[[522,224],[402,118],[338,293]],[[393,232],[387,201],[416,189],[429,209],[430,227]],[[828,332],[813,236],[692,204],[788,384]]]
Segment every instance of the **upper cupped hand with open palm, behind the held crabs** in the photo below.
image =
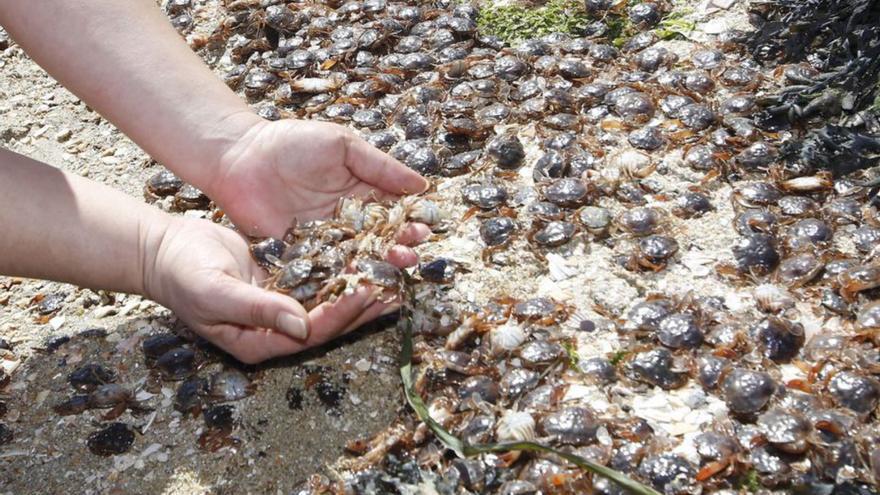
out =
[[291,222],[326,218],[339,198],[414,194],[428,183],[345,127],[259,121],[220,158],[208,190],[252,236],[281,236]]

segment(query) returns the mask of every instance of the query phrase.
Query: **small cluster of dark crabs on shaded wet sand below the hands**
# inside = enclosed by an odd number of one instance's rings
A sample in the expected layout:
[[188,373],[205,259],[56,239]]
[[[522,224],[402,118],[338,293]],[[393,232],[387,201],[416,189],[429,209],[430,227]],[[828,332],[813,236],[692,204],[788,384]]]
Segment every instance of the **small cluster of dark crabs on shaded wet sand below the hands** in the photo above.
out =
[[[47,346],[46,352],[54,353],[62,346],[66,352],[78,352],[77,348],[86,348],[90,340],[102,339],[105,334],[103,329],[81,332],[75,339],[65,338],[57,345]],[[219,351],[205,341],[191,343],[173,333],[147,337],[141,343],[141,350],[149,369],[144,379],[135,382],[132,370],[93,356],[67,375],[72,395],[53,399],[52,410],[58,416],[104,411],[95,416],[102,423],[101,428],[86,440],[90,452],[100,456],[129,452],[136,434],[145,434],[156,419],[157,411],[152,407],[156,401],[152,399],[169,385],[176,385],[173,400],[176,411],[184,418],[200,415],[204,418],[205,428],[197,442],[199,448],[213,452],[239,443],[232,436],[235,425],[231,403],[254,392],[253,374],[221,366]],[[200,373],[206,367],[214,369],[207,376]],[[145,417],[146,421],[136,426],[119,421],[126,411],[135,417]],[[108,421],[110,423],[104,423]]]

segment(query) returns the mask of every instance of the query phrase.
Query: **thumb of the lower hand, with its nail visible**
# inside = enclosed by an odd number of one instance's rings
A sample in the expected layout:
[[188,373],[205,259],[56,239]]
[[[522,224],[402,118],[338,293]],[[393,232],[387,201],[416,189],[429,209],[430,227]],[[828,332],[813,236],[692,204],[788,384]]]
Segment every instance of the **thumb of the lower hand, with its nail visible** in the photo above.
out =
[[308,312],[291,297],[232,277],[212,296],[218,316],[227,323],[271,328],[301,340],[309,336]]

